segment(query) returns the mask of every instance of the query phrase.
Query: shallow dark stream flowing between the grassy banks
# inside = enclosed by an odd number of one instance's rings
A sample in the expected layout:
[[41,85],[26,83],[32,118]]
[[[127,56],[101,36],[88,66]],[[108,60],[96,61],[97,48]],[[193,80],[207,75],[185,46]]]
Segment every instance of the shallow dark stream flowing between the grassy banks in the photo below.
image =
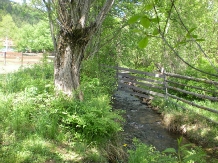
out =
[[131,145],[135,137],[147,145],[153,145],[157,150],[166,148],[177,149],[179,135],[169,133],[162,125],[161,116],[142,104],[140,99],[124,91],[114,94],[114,109],[125,110],[124,139]]

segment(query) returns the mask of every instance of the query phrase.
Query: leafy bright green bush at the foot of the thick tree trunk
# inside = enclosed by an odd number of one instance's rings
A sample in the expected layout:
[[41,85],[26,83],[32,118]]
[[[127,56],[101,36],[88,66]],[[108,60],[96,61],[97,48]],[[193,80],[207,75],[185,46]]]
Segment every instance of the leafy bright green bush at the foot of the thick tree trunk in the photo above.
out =
[[112,112],[109,98],[101,96],[91,98],[86,102],[67,100],[64,97],[54,100],[52,110],[58,117],[63,128],[71,132],[72,139],[99,140],[112,137],[121,130],[115,120],[121,120],[115,112]]

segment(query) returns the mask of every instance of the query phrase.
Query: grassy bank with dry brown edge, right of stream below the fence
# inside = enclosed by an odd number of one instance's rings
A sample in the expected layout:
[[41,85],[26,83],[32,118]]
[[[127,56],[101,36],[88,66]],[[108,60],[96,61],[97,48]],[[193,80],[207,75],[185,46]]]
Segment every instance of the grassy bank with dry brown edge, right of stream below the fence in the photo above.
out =
[[[216,102],[195,101],[195,103],[218,110]],[[163,116],[163,122],[168,130],[181,133],[192,142],[203,146],[208,154],[214,157],[215,162],[218,161],[218,152],[216,150],[218,146],[217,124],[207,120],[217,121],[217,114],[173,99],[164,100],[156,98],[152,101],[152,105],[159,108]]]

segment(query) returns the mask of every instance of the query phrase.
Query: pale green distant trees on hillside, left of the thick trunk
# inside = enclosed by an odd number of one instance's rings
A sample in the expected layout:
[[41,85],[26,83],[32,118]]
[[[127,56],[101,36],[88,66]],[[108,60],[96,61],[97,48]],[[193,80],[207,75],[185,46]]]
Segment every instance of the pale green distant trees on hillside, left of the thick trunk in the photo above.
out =
[[[16,50],[22,52],[53,50],[49,25],[43,20],[43,16],[38,10],[27,5],[12,4],[12,2],[2,3],[0,39],[5,37],[12,39]],[[8,11],[6,6],[9,6],[11,11]],[[39,21],[39,17],[41,17],[41,21]]]

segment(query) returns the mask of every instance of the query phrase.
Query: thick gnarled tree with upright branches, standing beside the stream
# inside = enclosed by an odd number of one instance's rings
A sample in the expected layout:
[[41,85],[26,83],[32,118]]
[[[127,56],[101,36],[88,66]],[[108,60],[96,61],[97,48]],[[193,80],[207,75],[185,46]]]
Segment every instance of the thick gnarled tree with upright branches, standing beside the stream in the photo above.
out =
[[[99,30],[114,0],[43,0],[48,11],[56,56],[54,67],[55,88],[80,100],[80,69],[87,44]],[[103,3],[102,3],[103,2]],[[93,11],[94,8],[98,11]],[[53,12],[53,14],[51,14]],[[54,16],[56,15],[56,16]],[[77,92],[77,93],[74,93]]]

